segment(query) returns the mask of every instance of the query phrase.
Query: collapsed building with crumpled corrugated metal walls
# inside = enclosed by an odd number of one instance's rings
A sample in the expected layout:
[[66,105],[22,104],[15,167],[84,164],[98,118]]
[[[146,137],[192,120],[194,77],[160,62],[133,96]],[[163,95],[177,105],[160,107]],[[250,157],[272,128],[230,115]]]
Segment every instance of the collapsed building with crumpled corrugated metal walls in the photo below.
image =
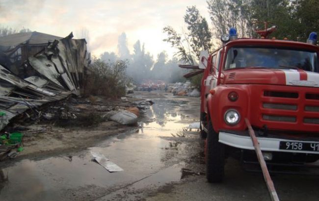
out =
[[80,95],[89,63],[85,39],[73,39],[72,33],[65,38],[35,31],[0,37],[0,111],[10,120]]

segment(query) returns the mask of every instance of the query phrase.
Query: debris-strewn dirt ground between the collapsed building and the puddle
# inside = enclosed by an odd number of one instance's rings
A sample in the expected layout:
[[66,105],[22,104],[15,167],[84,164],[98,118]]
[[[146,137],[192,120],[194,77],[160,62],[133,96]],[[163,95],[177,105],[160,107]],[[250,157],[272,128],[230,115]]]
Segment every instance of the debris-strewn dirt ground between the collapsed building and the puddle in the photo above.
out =
[[[127,101],[102,96],[94,99],[91,103],[89,98],[69,97],[38,107],[40,117],[35,120],[16,117],[5,130],[23,132],[24,151],[19,152],[19,157],[83,149],[110,135],[134,130],[136,124],[121,125],[109,118],[121,111],[129,112],[127,109],[136,111],[138,104],[151,104],[133,97],[127,97]],[[136,121],[144,116],[131,114]]]

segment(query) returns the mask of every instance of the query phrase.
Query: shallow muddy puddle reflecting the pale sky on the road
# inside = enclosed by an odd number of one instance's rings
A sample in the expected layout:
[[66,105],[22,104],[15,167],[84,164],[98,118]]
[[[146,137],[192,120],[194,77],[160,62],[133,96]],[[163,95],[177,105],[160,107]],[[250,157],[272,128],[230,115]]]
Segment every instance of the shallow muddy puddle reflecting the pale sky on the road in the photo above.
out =
[[[120,133],[80,152],[25,159],[2,168],[0,200],[78,200],[83,196],[81,192],[91,200],[111,196],[123,187],[146,188],[179,181],[183,160],[192,149],[190,143],[198,138],[197,129],[187,128],[194,119],[178,112],[189,102],[154,102],[144,114],[151,121],[140,122],[133,132]],[[92,160],[91,151],[104,154],[124,171],[109,173]],[[88,186],[95,190],[85,191]]]

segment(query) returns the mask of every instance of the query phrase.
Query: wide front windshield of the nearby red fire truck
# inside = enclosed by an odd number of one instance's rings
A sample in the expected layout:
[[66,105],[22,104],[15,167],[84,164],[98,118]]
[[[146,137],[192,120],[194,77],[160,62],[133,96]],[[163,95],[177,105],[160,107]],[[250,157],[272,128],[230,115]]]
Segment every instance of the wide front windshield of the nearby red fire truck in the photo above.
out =
[[317,52],[278,48],[230,48],[225,69],[262,67],[319,72]]

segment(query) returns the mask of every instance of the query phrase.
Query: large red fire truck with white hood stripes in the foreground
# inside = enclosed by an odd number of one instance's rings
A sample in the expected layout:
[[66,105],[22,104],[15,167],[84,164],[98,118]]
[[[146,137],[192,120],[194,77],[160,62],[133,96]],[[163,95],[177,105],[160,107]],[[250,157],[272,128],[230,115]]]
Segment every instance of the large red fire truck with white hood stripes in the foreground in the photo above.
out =
[[257,30],[259,39],[239,39],[231,28],[221,36],[222,47],[200,56],[201,135],[209,182],[223,180],[228,156],[254,161],[246,121],[267,165],[302,166],[319,159],[317,33],[306,43],[268,39],[276,26],[265,26]]

